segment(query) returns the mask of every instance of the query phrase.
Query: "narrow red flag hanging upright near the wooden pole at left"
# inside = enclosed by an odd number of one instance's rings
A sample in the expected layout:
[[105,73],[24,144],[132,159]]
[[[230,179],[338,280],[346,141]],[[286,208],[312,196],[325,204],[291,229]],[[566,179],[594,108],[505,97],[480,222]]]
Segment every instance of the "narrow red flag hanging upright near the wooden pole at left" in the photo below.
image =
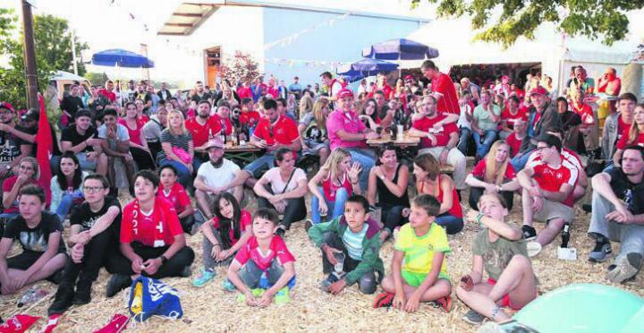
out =
[[38,166],[40,166],[40,178],[38,184],[45,189],[47,194],[47,206],[51,202],[51,166],[49,161],[52,158],[54,151],[54,141],[51,136],[51,129],[49,128],[49,120],[47,119],[47,110],[45,109],[45,101],[42,96],[38,94],[38,101],[40,102],[40,115],[38,117],[38,132],[36,133],[36,143],[38,150],[36,151],[36,159],[38,159]]

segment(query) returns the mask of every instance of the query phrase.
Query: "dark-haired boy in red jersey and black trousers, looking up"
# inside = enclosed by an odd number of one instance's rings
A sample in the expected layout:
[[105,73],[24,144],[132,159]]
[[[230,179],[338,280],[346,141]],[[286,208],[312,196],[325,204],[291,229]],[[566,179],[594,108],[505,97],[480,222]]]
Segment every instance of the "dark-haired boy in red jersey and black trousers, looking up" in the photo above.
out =
[[131,286],[140,276],[189,277],[194,252],[171,203],[157,199],[159,178],[150,170],[134,175],[133,201],[123,208],[121,249],[113,260],[107,297]]

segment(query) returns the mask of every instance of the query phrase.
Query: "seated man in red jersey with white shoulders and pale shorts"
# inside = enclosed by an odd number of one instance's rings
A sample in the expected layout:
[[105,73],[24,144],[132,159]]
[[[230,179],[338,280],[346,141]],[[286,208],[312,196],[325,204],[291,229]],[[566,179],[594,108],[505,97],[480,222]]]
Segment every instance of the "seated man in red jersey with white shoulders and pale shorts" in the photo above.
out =
[[[579,177],[577,168],[562,157],[562,141],[555,135],[538,136],[536,150],[540,160],[525,166],[517,175],[523,188],[521,229],[526,240],[536,238],[528,245],[530,256],[537,255],[565,224],[572,223],[572,191]],[[539,235],[532,226],[535,219],[547,223]]]

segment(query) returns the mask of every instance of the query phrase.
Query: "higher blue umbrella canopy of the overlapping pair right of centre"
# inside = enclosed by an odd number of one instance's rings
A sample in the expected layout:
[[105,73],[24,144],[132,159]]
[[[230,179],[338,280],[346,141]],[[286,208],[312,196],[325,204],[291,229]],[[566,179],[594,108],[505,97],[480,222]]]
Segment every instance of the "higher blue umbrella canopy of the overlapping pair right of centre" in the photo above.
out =
[[365,48],[362,56],[384,60],[423,60],[436,58],[438,50],[411,39],[396,38]]

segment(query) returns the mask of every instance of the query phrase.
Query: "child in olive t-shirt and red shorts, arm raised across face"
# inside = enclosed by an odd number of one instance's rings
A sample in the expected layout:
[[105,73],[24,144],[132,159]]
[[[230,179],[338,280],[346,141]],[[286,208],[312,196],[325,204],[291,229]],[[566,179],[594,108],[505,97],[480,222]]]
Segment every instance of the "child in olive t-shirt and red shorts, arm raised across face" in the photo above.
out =
[[[489,192],[480,197],[479,211],[470,210],[467,218],[485,226],[472,244],[470,274],[461,277],[458,298],[470,307],[463,320],[478,325],[489,318],[510,320],[501,307],[518,311],[537,298],[535,277],[521,229],[505,222],[508,208],[502,196]],[[487,281],[483,271],[487,272]]]

